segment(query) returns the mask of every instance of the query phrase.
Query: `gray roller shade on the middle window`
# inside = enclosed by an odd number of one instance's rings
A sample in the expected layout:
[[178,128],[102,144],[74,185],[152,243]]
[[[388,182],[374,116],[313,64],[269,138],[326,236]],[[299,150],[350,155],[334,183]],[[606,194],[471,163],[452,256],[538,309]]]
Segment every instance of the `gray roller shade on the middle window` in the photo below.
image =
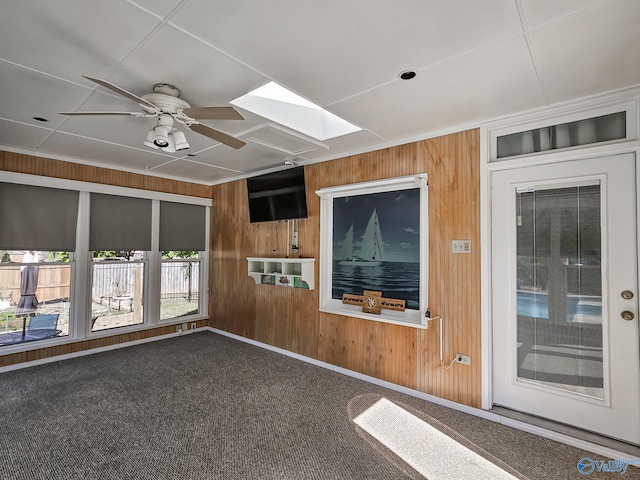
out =
[[151,200],[91,194],[89,250],[151,250]]

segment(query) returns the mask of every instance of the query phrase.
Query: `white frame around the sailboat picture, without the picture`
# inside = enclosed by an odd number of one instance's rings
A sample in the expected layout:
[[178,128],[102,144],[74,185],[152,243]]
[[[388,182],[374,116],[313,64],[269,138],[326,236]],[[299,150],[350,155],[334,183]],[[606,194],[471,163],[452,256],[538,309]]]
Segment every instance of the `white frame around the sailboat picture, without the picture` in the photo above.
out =
[[[397,312],[382,310],[379,315],[364,313],[362,308],[344,305],[332,298],[333,289],[333,200],[354,195],[366,195],[420,188],[420,308]],[[429,204],[426,173],[389,178],[372,182],[328,187],[316,191],[320,197],[320,311],[348,317],[363,318],[396,325],[426,328],[428,310]],[[384,292],[383,292],[384,294]]]

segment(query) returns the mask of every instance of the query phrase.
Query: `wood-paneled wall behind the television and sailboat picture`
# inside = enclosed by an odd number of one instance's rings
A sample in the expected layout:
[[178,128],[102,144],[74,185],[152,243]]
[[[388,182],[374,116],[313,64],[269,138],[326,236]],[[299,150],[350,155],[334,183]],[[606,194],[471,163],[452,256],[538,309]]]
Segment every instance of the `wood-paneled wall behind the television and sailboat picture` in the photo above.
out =
[[[320,199],[315,191],[426,172],[429,176],[429,306],[444,318],[427,330],[318,311],[319,290],[256,285],[246,257],[283,256],[286,224],[250,224],[246,182],[213,187],[210,324],[291,352],[466,405],[480,407],[479,131],[470,130],[305,167],[309,218],[299,224],[302,256],[319,258]],[[278,229],[276,242],[275,229]],[[451,254],[451,240],[471,254]],[[276,250],[276,251],[274,251]],[[316,285],[319,285],[316,262]]]

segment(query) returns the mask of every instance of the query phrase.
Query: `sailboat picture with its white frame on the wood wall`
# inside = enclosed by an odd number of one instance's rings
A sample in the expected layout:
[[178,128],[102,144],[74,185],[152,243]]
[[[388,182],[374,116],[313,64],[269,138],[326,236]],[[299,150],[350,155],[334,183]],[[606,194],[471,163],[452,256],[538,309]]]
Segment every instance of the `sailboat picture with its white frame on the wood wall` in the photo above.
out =
[[[320,207],[320,310],[424,326],[427,310],[428,205],[425,174],[330,187]],[[343,297],[381,292],[404,311],[379,315]]]

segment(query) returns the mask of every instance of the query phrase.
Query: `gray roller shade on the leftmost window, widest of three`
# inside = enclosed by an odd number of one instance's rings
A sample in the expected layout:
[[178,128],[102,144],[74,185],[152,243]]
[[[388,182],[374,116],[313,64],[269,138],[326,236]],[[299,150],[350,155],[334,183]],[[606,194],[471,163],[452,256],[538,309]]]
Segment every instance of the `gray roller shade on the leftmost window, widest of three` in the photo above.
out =
[[79,193],[0,183],[0,249],[73,252]]

